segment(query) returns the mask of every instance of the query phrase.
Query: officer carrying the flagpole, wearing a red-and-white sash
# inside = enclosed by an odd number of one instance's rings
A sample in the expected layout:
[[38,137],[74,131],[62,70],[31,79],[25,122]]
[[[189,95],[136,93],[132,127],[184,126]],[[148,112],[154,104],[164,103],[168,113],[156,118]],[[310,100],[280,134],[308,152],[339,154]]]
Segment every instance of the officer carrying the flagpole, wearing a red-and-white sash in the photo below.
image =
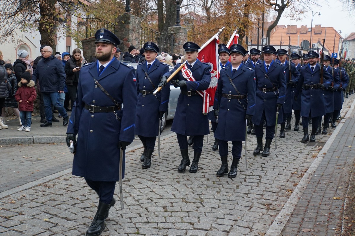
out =
[[[186,166],[190,166],[187,136],[193,135],[194,153],[189,172],[196,173],[202,152],[203,136],[209,134],[208,117],[207,114],[202,113],[204,102],[202,96],[211,82],[211,66],[197,59],[200,46],[194,42],[186,42],[183,48],[186,64],[174,76],[174,87],[180,87],[180,95],[171,131],[176,133],[182,156],[178,172],[184,172]],[[165,73],[160,79],[163,85],[166,78],[180,65],[178,63],[173,70]]]

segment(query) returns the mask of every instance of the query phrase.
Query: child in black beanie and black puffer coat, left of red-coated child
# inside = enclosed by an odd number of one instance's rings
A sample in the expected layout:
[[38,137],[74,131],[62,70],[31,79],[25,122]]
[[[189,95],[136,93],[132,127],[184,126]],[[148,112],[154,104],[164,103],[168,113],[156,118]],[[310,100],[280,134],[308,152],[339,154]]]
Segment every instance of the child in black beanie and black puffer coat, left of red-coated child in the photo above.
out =
[[[12,108],[13,113],[15,113],[16,117],[21,123],[20,119],[20,111],[18,110],[18,105],[15,99],[15,93],[17,91],[17,79],[15,74],[13,74],[13,68],[11,64],[5,64],[5,69],[7,72],[7,81],[9,81],[11,85],[11,92],[9,93],[9,97],[5,98],[5,107]],[[5,107],[2,108],[2,113],[5,114]]]

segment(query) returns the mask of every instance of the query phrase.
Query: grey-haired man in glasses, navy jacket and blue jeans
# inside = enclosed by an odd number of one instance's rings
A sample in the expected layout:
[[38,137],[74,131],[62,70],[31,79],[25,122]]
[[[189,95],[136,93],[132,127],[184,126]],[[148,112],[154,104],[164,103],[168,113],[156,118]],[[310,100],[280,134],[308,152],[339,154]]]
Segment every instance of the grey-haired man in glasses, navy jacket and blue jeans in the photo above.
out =
[[52,126],[52,109],[51,103],[58,109],[63,117],[63,125],[67,126],[69,116],[64,107],[59,102],[59,93],[64,92],[65,85],[65,72],[61,61],[53,56],[53,50],[49,46],[45,46],[41,50],[43,59],[37,64],[37,67],[32,75],[34,82],[39,80],[40,92],[43,96],[45,107],[46,122],[41,124],[40,127]]

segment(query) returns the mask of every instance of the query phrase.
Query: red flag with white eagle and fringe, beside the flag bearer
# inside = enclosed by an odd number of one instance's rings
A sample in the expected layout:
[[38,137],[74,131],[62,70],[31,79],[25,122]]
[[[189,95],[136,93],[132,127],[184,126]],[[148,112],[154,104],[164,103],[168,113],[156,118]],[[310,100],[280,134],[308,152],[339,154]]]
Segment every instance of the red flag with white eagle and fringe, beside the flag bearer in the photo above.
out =
[[[205,90],[205,96],[208,99],[204,99],[203,110],[210,112],[213,110],[213,101],[214,94],[217,89],[218,82],[218,38],[213,39],[206,47],[202,48],[200,52],[198,52],[198,59],[201,62],[208,63],[211,65],[211,82],[207,90]],[[207,114],[206,113],[206,114]]]

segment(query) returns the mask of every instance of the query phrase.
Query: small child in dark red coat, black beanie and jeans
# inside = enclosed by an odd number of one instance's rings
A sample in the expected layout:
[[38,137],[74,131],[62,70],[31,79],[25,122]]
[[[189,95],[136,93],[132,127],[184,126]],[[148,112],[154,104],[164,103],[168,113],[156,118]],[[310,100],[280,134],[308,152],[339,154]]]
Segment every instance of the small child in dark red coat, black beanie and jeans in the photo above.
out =
[[33,103],[37,94],[34,88],[34,81],[31,80],[31,74],[26,71],[21,75],[21,81],[18,83],[18,88],[15,94],[15,99],[18,102],[18,110],[20,110],[20,117],[22,126],[18,131],[31,130],[31,116],[33,111]]

